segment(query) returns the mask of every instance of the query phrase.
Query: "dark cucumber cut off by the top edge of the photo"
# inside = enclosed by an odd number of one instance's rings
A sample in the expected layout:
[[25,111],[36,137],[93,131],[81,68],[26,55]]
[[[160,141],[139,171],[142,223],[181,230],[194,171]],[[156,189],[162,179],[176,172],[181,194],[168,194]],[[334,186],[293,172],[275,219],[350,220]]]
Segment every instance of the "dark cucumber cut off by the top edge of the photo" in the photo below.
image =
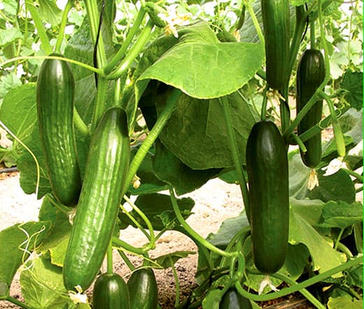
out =
[[288,0],[261,0],[267,82],[282,89],[289,78],[290,10]]

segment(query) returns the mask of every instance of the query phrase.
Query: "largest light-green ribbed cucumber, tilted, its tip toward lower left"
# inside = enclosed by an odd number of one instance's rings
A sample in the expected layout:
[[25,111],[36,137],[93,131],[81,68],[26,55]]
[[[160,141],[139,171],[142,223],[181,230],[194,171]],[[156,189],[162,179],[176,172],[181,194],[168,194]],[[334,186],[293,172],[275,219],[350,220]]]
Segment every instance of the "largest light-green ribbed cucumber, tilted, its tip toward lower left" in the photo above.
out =
[[106,110],[91,138],[85,177],[71,229],[63,280],[83,291],[97,275],[111,240],[130,159],[127,115]]

